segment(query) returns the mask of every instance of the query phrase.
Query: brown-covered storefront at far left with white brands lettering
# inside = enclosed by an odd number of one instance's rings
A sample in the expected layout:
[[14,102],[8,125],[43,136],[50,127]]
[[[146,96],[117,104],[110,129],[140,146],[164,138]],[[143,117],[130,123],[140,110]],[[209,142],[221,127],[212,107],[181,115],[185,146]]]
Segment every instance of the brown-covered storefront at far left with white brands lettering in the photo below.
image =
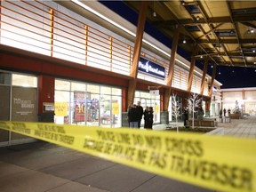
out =
[[[1,121],[37,121],[37,77],[0,70]],[[0,130],[0,146],[32,139]]]

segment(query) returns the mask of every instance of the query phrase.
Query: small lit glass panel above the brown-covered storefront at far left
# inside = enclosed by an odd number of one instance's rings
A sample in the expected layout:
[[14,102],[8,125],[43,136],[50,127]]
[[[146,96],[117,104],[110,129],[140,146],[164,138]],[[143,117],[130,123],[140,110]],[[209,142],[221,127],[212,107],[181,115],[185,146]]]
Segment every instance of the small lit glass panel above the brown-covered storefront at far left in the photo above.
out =
[[12,85],[23,87],[37,87],[37,77],[12,74]]

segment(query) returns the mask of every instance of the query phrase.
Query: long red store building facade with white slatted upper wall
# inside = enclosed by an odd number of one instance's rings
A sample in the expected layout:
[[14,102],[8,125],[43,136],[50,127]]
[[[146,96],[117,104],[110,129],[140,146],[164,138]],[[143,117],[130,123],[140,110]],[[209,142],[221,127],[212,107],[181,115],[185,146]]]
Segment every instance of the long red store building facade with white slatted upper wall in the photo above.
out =
[[[4,92],[0,120],[127,126],[134,36],[110,30],[58,2],[1,1],[0,4],[0,89]],[[93,4],[106,12],[100,3]],[[111,15],[117,17],[114,12]],[[126,27],[132,28],[132,24],[127,23]],[[154,123],[162,124],[171,50],[152,36],[145,34],[144,38],[156,45],[141,47],[133,102],[140,100],[143,108],[152,106]],[[189,93],[189,68],[188,60],[177,55],[172,93],[178,95],[183,107]],[[201,91],[202,74],[202,70],[195,68],[191,92]],[[211,76],[204,81],[205,108],[207,100],[211,102]],[[220,88],[216,80],[214,84]],[[150,94],[148,87],[157,87],[159,94]],[[168,111],[168,119],[172,121],[171,105]],[[0,132],[2,145],[30,140]]]

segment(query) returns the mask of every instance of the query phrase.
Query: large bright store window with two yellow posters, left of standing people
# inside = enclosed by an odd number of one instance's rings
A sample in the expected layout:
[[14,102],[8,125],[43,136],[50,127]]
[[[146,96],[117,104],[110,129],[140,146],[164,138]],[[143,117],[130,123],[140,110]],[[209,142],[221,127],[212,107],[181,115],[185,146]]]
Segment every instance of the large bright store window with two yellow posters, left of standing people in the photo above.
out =
[[121,127],[121,93],[114,87],[56,80],[55,123]]

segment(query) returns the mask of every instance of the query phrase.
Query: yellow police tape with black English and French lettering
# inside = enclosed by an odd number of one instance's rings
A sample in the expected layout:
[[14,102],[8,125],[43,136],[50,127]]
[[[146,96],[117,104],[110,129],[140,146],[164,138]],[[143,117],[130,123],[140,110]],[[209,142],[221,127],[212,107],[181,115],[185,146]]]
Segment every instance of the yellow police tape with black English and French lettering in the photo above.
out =
[[256,191],[255,139],[27,122],[0,129],[204,188]]

